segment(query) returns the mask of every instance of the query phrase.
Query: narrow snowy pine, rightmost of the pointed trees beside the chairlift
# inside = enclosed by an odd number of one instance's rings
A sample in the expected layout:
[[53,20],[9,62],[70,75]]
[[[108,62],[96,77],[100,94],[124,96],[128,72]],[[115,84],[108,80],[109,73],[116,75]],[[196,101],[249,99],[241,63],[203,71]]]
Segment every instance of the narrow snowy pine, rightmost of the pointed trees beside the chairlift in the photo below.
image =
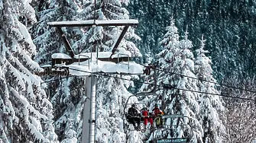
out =
[[[216,81],[212,76],[211,59],[205,55],[208,51],[203,49],[205,41],[202,36],[202,40],[200,40],[201,45],[199,49],[196,49],[196,77],[199,78],[199,80],[204,80],[198,82],[199,91],[209,94],[219,94],[219,91],[215,88],[215,84],[211,83]],[[200,106],[200,123],[203,125],[204,132],[203,142],[222,142],[225,136],[225,126],[222,123],[221,116],[225,108],[222,106],[222,101],[219,96],[209,94],[200,94],[198,100]]]

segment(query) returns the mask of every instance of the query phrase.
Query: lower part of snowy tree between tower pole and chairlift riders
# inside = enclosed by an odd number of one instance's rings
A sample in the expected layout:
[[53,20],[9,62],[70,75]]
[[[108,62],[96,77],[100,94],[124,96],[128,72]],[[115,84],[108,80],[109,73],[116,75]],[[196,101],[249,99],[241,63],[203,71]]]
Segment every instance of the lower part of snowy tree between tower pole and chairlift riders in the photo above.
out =
[[[125,122],[123,109],[125,101],[131,94],[124,86],[127,81],[115,78],[98,78],[96,141],[125,142]],[[108,83],[108,84],[106,84]]]

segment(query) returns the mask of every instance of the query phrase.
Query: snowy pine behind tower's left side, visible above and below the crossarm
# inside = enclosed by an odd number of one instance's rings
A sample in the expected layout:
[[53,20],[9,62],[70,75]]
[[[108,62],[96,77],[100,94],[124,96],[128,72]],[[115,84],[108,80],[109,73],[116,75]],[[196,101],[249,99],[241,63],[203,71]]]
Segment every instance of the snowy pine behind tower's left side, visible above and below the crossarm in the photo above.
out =
[[[74,21],[77,20],[81,1],[34,1],[37,10],[38,23],[33,27],[34,43],[38,53],[35,57],[40,64],[50,64],[51,55],[55,52],[66,53],[63,41],[54,28],[47,26],[50,21]],[[72,45],[82,37],[82,31],[74,28],[63,27],[67,39]],[[77,51],[76,51],[77,52]],[[58,80],[59,77],[47,77],[55,81],[48,83],[56,132],[59,141],[74,141],[80,138],[83,110],[83,101],[86,95],[82,93],[84,78],[67,78]]]

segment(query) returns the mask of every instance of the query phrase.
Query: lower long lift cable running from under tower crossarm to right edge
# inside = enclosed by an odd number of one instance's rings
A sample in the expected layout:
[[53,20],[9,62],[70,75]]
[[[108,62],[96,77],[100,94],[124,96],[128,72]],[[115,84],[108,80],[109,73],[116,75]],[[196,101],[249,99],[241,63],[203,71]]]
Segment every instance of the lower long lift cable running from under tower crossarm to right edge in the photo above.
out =
[[[74,70],[74,71],[87,72],[87,73],[90,73],[92,75],[100,75],[100,76],[105,76],[105,77],[109,77],[109,78],[118,78],[118,79],[122,79],[122,80],[126,80],[126,81],[134,81],[134,80],[130,80],[130,79],[114,77],[114,76],[111,76],[111,75],[103,75],[103,74],[100,74],[100,73],[92,73],[92,72],[89,72],[89,71],[83,71],[83,70],[79,70],[79,69],[76,69],[76,68],[70,68],[70,69]],[[117,75],[120,75],[120,74],[117,74]],[[140,84],[151,84],[151,83],[147,83],[147,82],[144,82],[144,81],[134,81],[134,82],[137,82],[137,83],[140,83]],[[171,84],[163,84],[163,85],[151,84],[151,85],[155,85],[157,87],[164,87],[166,89],[177,89],[177,90],[180,90],[180,91],[190,91],[190,92],[195,92],[195,93],[199,93],[199,94],[209,94],[209,95],[216,95],[216,96],[220,96],[220,97],[230,97],[230,98],[235,98],[235,99],[239,99],[239,100],[251,100],[251,101],[256,102],[256,100],[251,99],[251,98],[233,97],[233,96],[228,96],[228,95],[224,95],[224,94],[212,94],[212,93],[207,93],[207,92],[203,92],[203,91],[191,91],[191,90],[187,90],[187,89],[181,89],[181,88],[173,87],[173,85],[171,85]]]

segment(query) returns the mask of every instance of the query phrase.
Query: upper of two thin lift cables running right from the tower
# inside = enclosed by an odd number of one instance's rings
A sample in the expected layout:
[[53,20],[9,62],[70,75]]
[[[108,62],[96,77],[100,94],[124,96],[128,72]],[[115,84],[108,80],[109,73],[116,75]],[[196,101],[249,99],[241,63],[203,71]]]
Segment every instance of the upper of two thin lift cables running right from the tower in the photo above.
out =
[[182,74],[178,74],[178,73],[175,73],[175,72],[166,71],[166,70],[163,70],[163,69],[160,69],[160,68],[157,68],[157,70],[158,71],[164,71],[166,73],[170,73],[171,75],[180,75],[180,76],[183,76],[183,77],[186,77],[186,78],[192,78],[192,79],[196,79],[198,81],[205,81],[205,82],[209,82],[209,83],[212,83],[212,84],[219,84],[220,86],[223,86],[223,87],[229,87],[229,88],[238,89],[238,90],[241,90],[241,91],[248,91],[248,92],[256,94],[256,91],[251,91],[251,90],[243,89],[241,87],[233,87],[233,86],[230,86],[230,85],[227,85],[227,84],[220,84],[220,83],[214,82],[214,81],[207,81],[206,79],[194,78],[194,77],[190,77],[188,75],[182,75]]

